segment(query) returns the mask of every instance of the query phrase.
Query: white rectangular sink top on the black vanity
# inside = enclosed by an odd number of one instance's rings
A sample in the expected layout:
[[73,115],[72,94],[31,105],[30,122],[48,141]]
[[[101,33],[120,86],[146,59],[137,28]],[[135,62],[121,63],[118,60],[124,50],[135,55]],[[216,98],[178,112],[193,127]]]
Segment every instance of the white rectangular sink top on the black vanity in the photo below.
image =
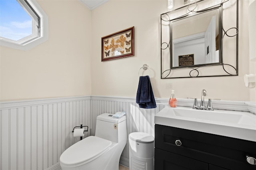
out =
[[159,125],[256,142],[256,115],[248,112],[166,106],[155,115],[154,121]]

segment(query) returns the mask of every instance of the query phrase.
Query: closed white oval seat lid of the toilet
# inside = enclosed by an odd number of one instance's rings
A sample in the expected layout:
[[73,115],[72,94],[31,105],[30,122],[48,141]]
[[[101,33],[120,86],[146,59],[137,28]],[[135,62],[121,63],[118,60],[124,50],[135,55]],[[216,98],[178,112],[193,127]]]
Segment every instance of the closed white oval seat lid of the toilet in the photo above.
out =
[[111,144],[100,137],[86,137],[66,149],[60,156],[60,163],[69,167],[88,163],[106,152]]

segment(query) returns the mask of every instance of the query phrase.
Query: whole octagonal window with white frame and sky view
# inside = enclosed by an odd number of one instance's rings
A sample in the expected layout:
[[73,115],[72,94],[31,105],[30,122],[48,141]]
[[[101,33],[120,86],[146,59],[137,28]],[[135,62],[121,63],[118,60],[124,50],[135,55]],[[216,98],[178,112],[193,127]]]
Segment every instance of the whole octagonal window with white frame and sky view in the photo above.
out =
[[47,26],[47,16],[35,1],[0,0],[1,45],[28,50],[47,40]]

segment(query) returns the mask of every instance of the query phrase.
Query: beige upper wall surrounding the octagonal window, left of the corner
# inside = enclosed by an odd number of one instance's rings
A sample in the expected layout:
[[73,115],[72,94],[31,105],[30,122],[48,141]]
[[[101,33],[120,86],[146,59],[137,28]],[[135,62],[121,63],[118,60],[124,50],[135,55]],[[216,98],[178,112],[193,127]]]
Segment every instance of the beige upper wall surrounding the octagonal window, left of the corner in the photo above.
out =
[[90,10],[74,0],[37,2],[48,15],[48,41],[28,51],[1,46],[0,100],[90,95]]

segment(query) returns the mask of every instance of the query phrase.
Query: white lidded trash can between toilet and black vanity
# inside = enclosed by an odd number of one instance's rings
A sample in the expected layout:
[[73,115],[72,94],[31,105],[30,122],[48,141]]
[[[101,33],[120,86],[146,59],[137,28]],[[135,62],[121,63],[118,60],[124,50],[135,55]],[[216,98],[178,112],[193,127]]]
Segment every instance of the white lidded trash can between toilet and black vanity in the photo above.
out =
[[154,170],[154,137],[142,132],[129,134],[129,169]]

